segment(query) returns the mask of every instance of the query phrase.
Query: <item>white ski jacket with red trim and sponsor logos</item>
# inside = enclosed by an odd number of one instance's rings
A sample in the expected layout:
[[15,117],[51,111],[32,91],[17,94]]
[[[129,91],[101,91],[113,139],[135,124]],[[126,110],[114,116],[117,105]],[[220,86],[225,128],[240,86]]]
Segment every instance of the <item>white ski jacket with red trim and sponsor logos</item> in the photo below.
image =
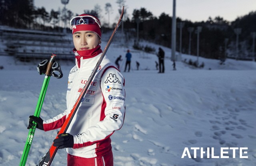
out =
[[[80,68],[76,60],[76,65],[68,76],[67,109],[64,113],[44,121],[45,131],[62,126],[100,55],[101,53],[89,59],[82,59]],[[66,148],[66,151],[68,154],[84,158],[93,158],[109,151],[110,136],[122,127],[124,115],[124,77],[105,55],[67,130],[67,133],[74,136],[74,146]]]

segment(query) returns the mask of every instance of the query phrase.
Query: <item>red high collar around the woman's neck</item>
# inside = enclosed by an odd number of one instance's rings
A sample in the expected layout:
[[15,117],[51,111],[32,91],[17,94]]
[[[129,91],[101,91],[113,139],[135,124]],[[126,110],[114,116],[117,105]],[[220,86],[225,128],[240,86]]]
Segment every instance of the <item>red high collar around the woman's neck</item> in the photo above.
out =
[[83,50],[83,51],[77,51],[76,48],[73,49],[75,57],[77,59],[78,67],[80,68],[80,58],[83,57],[83,59],[88,59],[95,57],[96,55],[102,53],[102,50],[100,49],[100,45],[93,49]]

